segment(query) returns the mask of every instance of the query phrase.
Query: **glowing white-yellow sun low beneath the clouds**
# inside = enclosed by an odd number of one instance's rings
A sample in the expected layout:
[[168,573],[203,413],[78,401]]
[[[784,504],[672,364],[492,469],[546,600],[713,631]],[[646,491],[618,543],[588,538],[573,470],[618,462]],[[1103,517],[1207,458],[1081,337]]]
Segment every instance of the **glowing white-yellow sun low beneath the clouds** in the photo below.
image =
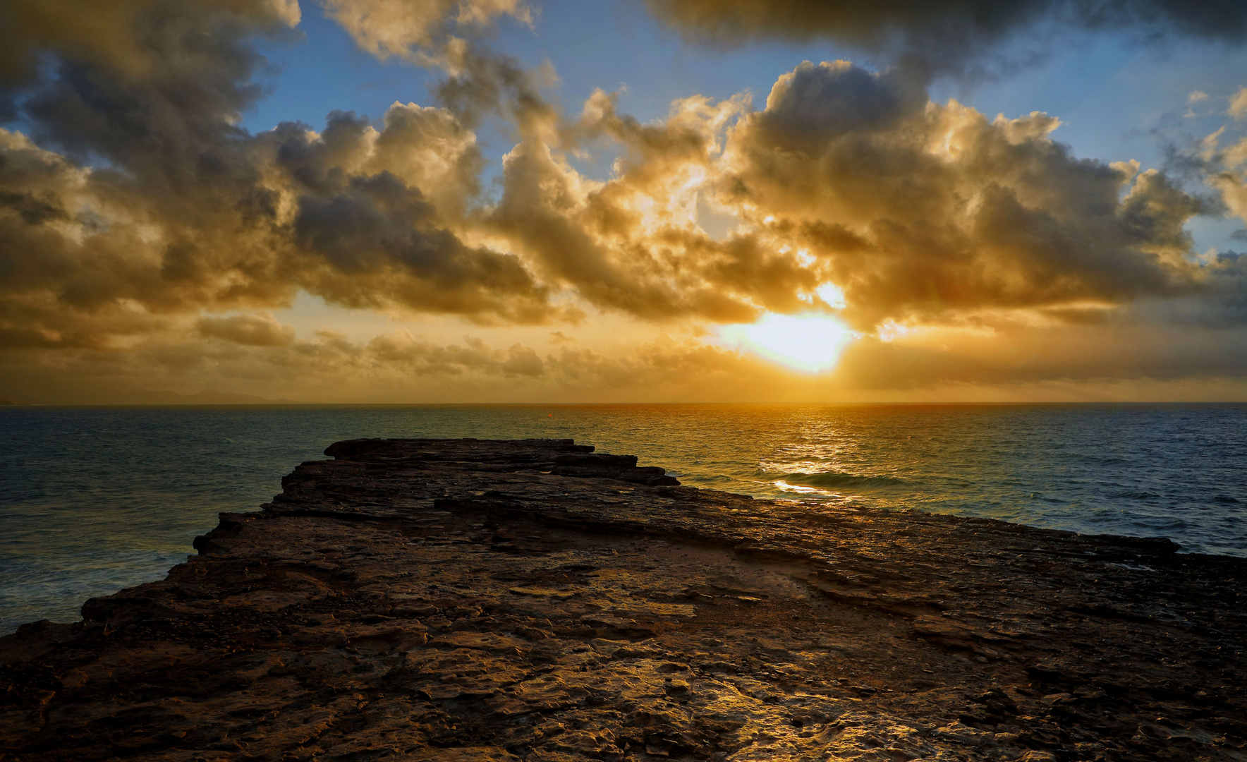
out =
[[718,335],[727,345],[804,373],[834,368],[857,338],[844,323],[821,313],[767,313],[756,323],[723,326]]

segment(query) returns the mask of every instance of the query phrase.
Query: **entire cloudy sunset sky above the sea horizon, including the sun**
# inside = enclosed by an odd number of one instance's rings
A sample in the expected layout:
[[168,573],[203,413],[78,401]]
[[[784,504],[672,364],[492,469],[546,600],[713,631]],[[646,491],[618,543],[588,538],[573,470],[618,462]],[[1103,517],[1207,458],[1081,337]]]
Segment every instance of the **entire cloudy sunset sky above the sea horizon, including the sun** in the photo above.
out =
[[1247,400],[1236,4],[0,29],[4,400]]

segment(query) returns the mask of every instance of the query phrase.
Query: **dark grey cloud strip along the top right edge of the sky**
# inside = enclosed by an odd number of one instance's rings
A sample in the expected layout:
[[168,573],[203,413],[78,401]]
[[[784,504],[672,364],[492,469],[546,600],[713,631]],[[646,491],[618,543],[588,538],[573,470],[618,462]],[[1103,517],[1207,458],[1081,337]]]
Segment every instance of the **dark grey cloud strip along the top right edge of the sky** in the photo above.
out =
[[1247,9],[1220,0],[647,0],[687,37],[720,45],[818,37],[956,71],[1042,27],[1126,31],[1143,40],[1247,40]]

